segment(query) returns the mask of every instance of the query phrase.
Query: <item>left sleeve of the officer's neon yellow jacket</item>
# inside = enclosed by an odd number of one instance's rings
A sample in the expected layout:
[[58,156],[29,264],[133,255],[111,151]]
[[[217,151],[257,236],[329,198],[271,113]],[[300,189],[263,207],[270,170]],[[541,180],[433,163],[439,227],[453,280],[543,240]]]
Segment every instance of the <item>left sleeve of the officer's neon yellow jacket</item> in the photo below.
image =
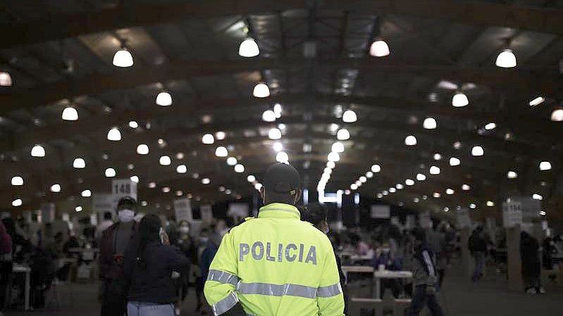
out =
[[204,294],[207,303],[211,305],[214,315],[221,315],[238,303],[235,292],[238,282],[237,253],[233,244],[233,234],[223,237],[221,246],[209,267]]

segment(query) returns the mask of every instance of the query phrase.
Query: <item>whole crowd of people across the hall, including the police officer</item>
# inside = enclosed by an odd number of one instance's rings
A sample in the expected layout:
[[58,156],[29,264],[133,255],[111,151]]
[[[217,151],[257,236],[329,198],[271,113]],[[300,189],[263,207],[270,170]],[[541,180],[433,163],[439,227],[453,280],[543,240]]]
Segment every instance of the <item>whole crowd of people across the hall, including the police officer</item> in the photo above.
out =
[[[466,245],[461,244],[459,231],[448,222],[435,222],[433,228],[407,229],[378,221],[369,230],[331,230],[325,206],[296,208],[299,177],[295,169],[287,170],[289,167],[278,164],[273,171],[268,170],[266,188],[261,191],[265,206],[259,216],[230,232],[221,221],[194,229],[185,220],[142,216],[137,212],[137,201],[129,197],[121,198],[116,212],[105,213],[99,225],[84,223],[80,230],[62,220],[37,225],[21,217],[5,217],[0,222],[0,304],[9,307],[14,296],[10,289],[18,287],[11,273],[13,265],[30,267],[31,303],[42,308],[53,284],[69,282],[76,266],[87,269],[98,260],[102,316],[180,315],[190,292],[196,302],[194,312],[201,315],[238,315],[236,306],[240,312],[245,307],[276,315],[272,304],[278,311],[318,309],[323,310],[323,315],[342,315],[347,313],[350,296],[342,265],[363,264],[371,265],[373,270],[412,271],[409,281],[383,279],[380,298],[411,298],[409,316],[419,315],[423,305],[428,306],[431,315],[441,316],[445,313],[437,293],[462,248],[466,247],[474,258],[474,283],[481,281],[487,263],[499,270],[506,264],[503,229],[478,225]],[[310,225],[303,226],[305,222]],[[296,236],[302,244],[293,244]],[[86,256],[75,252],[77,248],[99,252]],[[528,232],[521,232],[526,293],[545,293],[541,265],[552,270],[557,265],[554,258],[561,256],[562,249],[561,236],[540,242]],[[76,266],[65,258],[75,258]],[[248,279],[255,283],[241,283]],[[298,282],[306,284],[296,285]],[[285,286],[278,289],[276,284]],[[315,296],[306,291],[310,287],[307,284],[321,284],[314,289]],[[305,296],[317,301],[314,306],[303,305],[302,301],[280,301],[268,295]]]

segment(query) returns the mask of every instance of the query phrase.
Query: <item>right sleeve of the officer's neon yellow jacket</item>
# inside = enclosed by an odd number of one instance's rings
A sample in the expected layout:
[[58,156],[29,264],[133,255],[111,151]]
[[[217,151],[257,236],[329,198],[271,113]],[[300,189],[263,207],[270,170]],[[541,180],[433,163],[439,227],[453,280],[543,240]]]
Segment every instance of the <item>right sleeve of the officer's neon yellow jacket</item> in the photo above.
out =
[[344,315],[344,296],[340,286],[340,276],[336,266],[336,258],[333,247],[328,241],[328,251],[323,263],[321,282],[317,290],[316,304],[320,316],[342,316]]

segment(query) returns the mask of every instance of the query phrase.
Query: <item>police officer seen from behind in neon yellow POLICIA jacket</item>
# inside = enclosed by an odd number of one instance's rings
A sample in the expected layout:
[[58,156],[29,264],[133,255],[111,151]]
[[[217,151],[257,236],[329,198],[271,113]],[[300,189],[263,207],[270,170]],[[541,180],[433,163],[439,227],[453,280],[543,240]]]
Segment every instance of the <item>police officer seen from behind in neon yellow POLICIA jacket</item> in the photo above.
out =
[[268,168],[257,218],[223,237],[205,283],[215,315],[342,316],[344,299],[335,255],[323,232],[300,220],[299,173]]

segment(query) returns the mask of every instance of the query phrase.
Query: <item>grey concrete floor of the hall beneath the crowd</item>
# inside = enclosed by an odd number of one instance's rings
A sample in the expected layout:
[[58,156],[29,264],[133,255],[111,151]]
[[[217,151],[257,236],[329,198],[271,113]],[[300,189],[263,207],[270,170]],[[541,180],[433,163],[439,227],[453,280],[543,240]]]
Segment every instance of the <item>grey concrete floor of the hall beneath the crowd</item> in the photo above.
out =
[[[69,295],[72,291],[72,297]],[[440,301],[448,316],[556,316],[563,315],[563,287],[546,286],[545,295],[528,295],[509,292],[502,277],[490,273],[473,284],[461,270],[453,267],[447,274]],[[72,289],[60,289],[61,308],[47,308],[34,312],[8,310],[14,316],[94,316],[99,315],[97,284],[73,284]],[[189,298],[182,306],[182,315],[199,315],[194,312],[195,294],[190,289]],[[421,315],[427,315],[426,311]],[[285,316],[285,315],[284,315]],[[352,315],[355,316],[355,315]]]

